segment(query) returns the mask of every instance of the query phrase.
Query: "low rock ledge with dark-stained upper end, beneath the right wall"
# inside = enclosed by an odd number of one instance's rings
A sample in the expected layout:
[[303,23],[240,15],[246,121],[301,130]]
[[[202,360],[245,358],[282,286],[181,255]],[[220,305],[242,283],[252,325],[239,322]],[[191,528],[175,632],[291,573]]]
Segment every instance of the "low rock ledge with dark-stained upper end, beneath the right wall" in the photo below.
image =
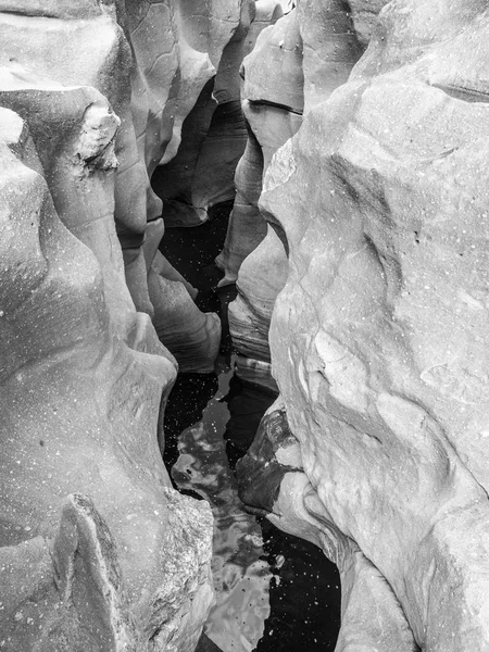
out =
[[322,548],[341,578],[341,630],[336,652],[416,649],[389,586],[331,523],[303,472],[301,449],[287,423],[281,399],[268,409],[247,455],[237,467],[240,496],[284,531]]

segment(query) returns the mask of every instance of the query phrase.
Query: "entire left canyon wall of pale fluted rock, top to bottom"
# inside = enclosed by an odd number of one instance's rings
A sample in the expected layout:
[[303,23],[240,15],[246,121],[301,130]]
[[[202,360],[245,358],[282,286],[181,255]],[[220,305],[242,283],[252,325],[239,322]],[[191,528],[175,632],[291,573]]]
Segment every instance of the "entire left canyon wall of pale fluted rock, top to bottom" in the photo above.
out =
[[191,652],[200,637],[212,514],[172,488],[160,448],[178,363],[212,369],[221,326],[158,251],[149,179],[204,89],[236,95],[254,9],[0,0],[8,652]]

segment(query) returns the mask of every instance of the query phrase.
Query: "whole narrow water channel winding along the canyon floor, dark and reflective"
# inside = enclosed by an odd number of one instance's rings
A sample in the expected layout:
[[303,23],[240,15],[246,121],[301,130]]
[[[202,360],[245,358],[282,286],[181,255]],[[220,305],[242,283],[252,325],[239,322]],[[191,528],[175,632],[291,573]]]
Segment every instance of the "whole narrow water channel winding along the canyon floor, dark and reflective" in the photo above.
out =
[[[168,229],[162,248],[198,287],[201,309],[224,317],[234,289],[215,291],[213,261],[229,208],[217,206],[203,226]],[[208,500],[214,514],[216,604],[204,631],[223,652],[333,652],[340,618],[336,566],[308,541],[247,513],[239,500],[234,467],[276,394],[240,378],[235,361],[225,337],[216,372],[180,374],[165,412],[172,479]]]

